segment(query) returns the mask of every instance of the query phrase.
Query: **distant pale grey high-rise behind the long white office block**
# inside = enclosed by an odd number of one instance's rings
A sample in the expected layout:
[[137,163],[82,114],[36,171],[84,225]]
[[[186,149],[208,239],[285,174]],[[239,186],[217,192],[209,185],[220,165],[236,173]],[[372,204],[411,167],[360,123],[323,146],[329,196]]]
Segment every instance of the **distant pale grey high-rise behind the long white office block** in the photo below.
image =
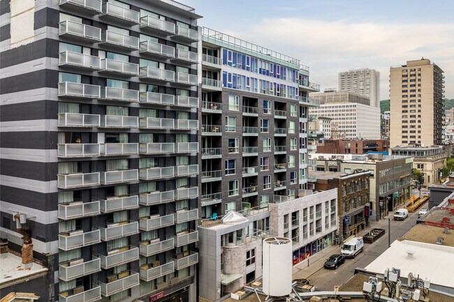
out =
[[350,91],[370,98],[372,107],[380,107],[380,73],[361,68],[339,73],[339,91]]

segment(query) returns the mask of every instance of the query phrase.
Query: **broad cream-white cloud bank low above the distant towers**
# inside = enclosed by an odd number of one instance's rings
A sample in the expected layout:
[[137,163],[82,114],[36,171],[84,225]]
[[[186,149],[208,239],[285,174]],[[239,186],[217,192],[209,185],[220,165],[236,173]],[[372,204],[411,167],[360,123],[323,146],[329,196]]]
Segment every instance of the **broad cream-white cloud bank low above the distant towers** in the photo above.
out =
[[323,21],[298,17],[266,18],[226,32],[300,59],[313,82],[337,86],[337,73],[373,68],[381,73],[381,98],[388,98],[390,66],[424,56],[445,71],[446,96],[454,98],[454,24]]

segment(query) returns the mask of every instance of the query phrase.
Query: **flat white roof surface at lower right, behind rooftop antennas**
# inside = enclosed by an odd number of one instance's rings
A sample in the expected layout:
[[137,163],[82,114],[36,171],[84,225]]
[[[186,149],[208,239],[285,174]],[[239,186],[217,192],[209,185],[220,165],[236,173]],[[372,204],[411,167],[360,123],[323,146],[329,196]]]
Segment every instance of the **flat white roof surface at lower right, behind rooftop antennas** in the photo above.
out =
[[[442,234],[442,232],[441,232]],[[407,256],[413,251],[413,257]],[[432,243],[416,241],[394,241],[391,247],[365,269],[373,273],[383,274],[385,269],[400,269],[400,275],[407,278],[419,274],[423,280],[430,278],[431,284],[454,287],[454,248],[439,246]]]

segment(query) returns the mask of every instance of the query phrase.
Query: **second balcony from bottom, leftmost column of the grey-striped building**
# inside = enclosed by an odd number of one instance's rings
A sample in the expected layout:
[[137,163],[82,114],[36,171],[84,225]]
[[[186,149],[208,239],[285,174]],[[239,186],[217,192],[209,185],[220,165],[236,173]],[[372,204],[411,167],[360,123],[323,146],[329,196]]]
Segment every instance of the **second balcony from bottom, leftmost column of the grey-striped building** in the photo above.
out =
[[101,271],[101,260],[97,257],[87,262],[84,259],[71,260],[59,264],[59,279],[69,281],[98,271]]

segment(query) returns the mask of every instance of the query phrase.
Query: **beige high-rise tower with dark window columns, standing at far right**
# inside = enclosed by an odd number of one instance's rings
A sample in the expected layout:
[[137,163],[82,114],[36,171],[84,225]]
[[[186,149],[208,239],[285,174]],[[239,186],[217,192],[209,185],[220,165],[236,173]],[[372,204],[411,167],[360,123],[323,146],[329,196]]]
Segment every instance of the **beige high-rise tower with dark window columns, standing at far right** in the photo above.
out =
[[390,146],[441,144],[443,73],[428,59],[390,68]]

